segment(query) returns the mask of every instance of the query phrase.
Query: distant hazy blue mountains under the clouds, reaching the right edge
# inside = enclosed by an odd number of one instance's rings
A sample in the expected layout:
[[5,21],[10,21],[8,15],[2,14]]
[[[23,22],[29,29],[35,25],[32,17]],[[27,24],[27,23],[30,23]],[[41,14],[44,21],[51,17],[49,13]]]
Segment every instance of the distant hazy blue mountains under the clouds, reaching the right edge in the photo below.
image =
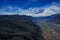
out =
[[45,17],[26,16],[26,18],[29,20],[32,20],[33,22],[45,21],[45,22],[60,24],[60,14],[54,14],[54,15],[45,16]]

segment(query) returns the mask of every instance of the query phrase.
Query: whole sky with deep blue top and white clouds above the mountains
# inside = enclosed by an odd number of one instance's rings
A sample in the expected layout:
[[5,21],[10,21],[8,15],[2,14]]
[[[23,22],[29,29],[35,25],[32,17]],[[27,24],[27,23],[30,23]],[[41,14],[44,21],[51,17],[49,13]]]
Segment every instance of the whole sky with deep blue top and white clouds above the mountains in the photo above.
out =
[[33,17],[60,14],[60,0],[0,0],[0,15]]

